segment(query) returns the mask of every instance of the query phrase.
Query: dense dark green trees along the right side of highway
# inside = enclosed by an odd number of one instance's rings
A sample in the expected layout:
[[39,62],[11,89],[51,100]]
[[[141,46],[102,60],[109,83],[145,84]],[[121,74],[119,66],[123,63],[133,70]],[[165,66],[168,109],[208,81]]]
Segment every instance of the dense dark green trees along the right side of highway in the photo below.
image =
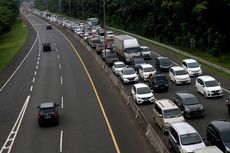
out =
[[[105,4],[107,25],[214,56],[230,53],[229,0],[105,0]],[[35,0],[35,6],[103,21],[103,0]]]

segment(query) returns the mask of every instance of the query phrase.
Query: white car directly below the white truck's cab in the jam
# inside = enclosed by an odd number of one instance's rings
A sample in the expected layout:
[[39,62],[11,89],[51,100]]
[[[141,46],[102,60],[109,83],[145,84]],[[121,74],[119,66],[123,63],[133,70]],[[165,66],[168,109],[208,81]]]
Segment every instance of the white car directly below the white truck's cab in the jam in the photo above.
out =
[[132,67],[122,69],[120,78],[123,83],[139,82],[138,75]]

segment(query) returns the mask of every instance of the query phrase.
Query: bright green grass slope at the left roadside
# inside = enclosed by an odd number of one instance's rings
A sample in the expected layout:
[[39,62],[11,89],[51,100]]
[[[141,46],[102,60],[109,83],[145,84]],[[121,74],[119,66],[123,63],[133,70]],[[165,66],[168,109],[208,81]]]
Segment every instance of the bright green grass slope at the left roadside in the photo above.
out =
[[22,21],[16,22],[11,30],[0,35],[0,70],[10,62],[22,48],[28,37],[28,29]]

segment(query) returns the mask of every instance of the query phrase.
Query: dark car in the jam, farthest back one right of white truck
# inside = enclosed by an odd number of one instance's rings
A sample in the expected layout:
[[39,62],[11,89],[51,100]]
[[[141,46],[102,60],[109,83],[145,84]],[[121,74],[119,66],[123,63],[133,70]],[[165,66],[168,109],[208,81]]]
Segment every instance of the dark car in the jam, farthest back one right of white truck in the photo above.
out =
[[167,72],[172,67],[172,63],[168,57],[160,56],[155,59],[155,67],[159,71]]

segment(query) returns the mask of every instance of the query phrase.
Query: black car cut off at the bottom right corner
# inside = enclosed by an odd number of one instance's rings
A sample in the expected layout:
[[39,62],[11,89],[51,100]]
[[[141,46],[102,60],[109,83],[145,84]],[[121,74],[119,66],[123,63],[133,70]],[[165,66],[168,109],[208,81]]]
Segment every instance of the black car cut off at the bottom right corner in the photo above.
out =
[[215,145],[224,153],[230,153],[230,122],[211,121],[207,127],[206,138],[208,145]]

